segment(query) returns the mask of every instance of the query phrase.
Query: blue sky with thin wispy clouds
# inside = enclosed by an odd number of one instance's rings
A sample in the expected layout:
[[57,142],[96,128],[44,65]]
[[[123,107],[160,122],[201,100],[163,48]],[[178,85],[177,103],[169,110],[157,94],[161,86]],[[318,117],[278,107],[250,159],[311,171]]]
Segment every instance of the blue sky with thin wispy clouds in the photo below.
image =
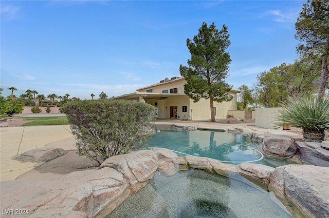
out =
[[[228,26],[239,88],[297,59],[295,23],[306,1],[1,1],[1,80],[39,94],[109,97],[179,76],[186,39],[203,22]],[[10,90],[9,90],[10,92]]]

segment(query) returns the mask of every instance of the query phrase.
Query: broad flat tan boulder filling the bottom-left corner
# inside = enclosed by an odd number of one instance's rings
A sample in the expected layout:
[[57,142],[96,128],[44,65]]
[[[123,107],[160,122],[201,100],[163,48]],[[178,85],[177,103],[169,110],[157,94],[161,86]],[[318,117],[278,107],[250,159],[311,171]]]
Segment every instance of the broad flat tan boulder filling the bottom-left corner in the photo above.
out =
[[6,181],[0,188],[1,206],[29,210],[28,217],[105,217],[130,194],[122,173],[112,168],[72,172],[54,181]]

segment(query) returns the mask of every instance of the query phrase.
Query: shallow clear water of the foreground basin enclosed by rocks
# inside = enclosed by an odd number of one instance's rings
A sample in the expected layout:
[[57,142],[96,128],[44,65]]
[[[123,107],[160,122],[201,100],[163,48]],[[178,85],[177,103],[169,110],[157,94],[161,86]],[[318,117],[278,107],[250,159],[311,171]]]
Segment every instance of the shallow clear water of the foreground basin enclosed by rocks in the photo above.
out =
[[147,186],[132,194],[107,218],[292,217],[276,202],[275,196],[248,181],[243,183],[198,169],[179,171],[170,177],[156,172]]

